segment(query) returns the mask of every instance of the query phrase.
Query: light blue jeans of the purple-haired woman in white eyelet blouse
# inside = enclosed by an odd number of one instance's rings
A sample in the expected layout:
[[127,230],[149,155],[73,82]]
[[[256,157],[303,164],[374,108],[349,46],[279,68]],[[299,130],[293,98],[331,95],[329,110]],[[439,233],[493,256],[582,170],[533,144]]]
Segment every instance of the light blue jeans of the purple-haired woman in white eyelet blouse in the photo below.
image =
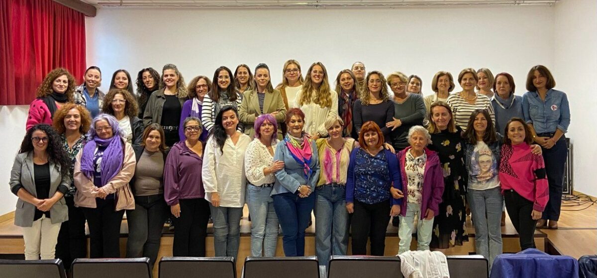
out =
[[251,256],[276,257],[278,216],[270,197],[272,187],[247,184],[247,205],[251,215]]

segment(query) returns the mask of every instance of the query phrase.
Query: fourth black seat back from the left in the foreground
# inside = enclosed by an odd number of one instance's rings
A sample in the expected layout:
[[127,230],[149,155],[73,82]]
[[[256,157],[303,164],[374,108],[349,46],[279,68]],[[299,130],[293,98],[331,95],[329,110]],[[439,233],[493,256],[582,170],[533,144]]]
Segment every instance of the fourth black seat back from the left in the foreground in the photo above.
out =
[[247,257],[244,278],[319,278],[317,257]]

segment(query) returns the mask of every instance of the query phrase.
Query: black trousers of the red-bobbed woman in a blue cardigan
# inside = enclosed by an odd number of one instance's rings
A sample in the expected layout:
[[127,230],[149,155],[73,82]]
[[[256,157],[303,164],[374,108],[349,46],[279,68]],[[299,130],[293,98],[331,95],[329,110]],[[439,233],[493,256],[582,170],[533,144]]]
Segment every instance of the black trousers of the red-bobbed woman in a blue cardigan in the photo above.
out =
[[352,255],[367,255],[367,239],[370,237],[371,255],[383,256],[390,209],[389,200],[371,205],[355,200],[355,212],[350,220]]

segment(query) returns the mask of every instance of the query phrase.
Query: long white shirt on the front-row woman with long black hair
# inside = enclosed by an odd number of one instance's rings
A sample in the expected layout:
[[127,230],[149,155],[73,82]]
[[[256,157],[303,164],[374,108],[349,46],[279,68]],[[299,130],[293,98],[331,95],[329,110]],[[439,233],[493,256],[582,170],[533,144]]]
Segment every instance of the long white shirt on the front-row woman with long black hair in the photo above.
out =
[[220,194],[220,206],[242,208],[245,205],[245,151],[251,143],[248,135],[240,134],[236,145],[230,136],[224,142],[223,152],[211,136],[205,144],[201,174],[205,187],[205,199],[211,203],[211,193]]

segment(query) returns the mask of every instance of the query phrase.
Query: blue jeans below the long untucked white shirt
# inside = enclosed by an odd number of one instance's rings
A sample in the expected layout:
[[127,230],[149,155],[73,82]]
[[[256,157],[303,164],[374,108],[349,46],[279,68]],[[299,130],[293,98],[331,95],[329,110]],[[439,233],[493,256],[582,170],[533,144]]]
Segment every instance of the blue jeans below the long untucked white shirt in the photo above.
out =
[[242,208],[216,207],[210,203],[210,210],[214,221],[215,257],[234,257],[236,260],[241,240]]

